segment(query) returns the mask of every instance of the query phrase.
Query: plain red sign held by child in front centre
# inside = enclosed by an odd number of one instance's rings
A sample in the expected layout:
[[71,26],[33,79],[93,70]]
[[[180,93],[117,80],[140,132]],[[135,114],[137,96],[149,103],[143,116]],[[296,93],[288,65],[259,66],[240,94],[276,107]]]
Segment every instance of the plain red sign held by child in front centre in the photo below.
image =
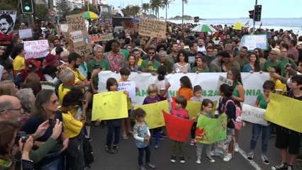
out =
[[186,120],[178,118],[175,115],[162,111],[164,115],[164,123],[166,123],[166,130],[169,139],[179,142],[186,142],[191,132],[194,120]]

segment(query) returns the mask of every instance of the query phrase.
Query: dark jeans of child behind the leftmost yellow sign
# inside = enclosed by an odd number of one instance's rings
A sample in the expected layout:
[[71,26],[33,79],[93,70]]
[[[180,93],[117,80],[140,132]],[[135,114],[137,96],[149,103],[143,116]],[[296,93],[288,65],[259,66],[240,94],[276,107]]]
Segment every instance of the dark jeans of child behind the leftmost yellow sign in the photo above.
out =
[[113,140],[113,132],[114,132],[114,142],[113,145],[118,145],[120,142],[120,133],[121,133],[121,123],[111,123],[110,121],[107,121],[107,139],[106,139],[106,145],[108,147],[111,147],[112,140]]

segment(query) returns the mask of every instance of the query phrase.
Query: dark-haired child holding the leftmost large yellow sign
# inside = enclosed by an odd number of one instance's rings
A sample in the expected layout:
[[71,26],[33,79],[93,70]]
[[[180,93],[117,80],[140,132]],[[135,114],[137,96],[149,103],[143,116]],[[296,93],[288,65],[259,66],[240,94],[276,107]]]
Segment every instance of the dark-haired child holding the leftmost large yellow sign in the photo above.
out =
[[[118,89],[118,81],[114,78],[107,79],[106,89],[108,91],[117,91]],[[128,94],[127,91],[124,91],[125,94]],[[121,131],[121,123],[122,119],[113,119],[106,120],[107,123],[107,138],[106,138],[106,152],[109,154],[116,154],[118,152],[118,143],[120,142],[120,131]],[[113,147],[111,148],[111,143],[113,140],[113,132],[114,132],[114,142]]]

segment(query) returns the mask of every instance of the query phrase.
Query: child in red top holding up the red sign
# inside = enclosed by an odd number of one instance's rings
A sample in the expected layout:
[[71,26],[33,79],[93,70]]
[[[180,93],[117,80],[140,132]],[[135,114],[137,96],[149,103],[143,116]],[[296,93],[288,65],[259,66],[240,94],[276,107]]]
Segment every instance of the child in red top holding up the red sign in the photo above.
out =
[[[186,111],[186,98],[184,96],[177,96],[175,98],[176,107],[172,109],[171,115],[175,115],[179,118],[189,119],[189,113]],[[170,161],[172,163],[176,162],[177,148],[179,149],[179,162],[184,164],[186,161],[184,159],[184,142],[179,142],[172,140],[172,156]]]

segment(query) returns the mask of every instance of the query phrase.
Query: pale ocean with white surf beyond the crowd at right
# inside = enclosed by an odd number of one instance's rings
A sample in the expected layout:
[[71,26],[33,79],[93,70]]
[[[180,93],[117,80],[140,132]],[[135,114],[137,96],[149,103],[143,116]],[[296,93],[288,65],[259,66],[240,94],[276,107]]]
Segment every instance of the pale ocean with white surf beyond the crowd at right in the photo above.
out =
[[[172,23],[181,23],[181,20],[167,20]],[[213,24],[213,25],[234,25],[236,22],[242,22],[243,24],[250,21],[250,28],[253,26],[253,21],[250,18],[210,18],[199,21],[199,24]],[[194,23],[194,20],[184,20],[184,23]],[[255,28],[259,28],[261,22],[256,22]],[[284,29],[293,30],[293,33],[302,35],[302,18],[262,18],[261,28],[269,28],[274,30]]]

